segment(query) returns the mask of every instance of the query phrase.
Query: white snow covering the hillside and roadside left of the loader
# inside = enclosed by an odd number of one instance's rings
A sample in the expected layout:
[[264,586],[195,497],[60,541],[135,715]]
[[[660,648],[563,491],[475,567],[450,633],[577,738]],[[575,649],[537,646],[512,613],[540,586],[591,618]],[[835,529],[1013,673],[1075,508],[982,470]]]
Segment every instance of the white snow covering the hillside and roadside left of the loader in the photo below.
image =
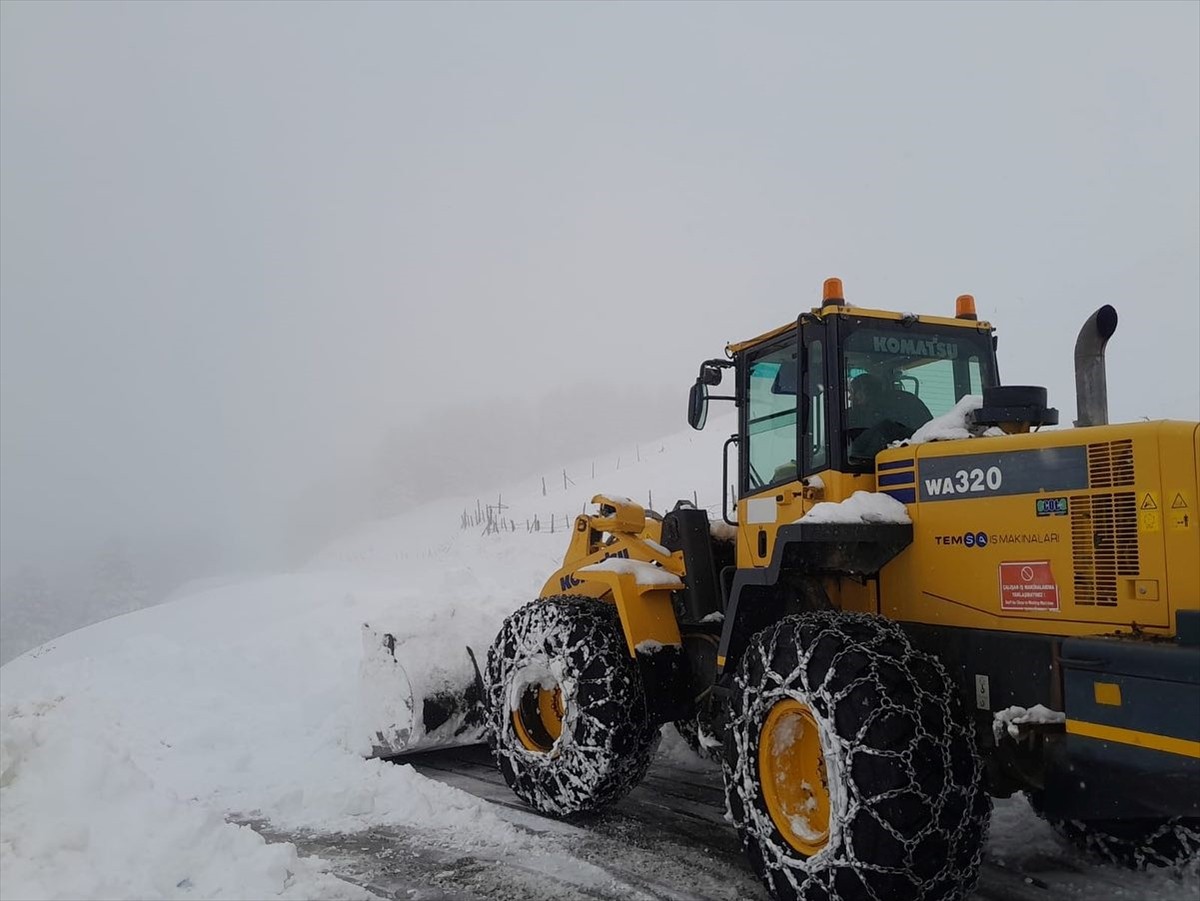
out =
[[[557,569],[563,523],[594,493],[644,500],[653,489],[661,510],[695,492],[719,515],[721,443],[732,426],[714,418],[703,433],[568,462],[546,474],[546,494],[540,475],[500,486],[516,531],[462,529],[476,498],[443,500],[359,530],[304,571],[180,596],[0,668],[0,896],[368,895],[289,841],[268,842],[236,823],[276,839],[415,833],[443,851],[520,860],[550,885],[558,876],[572,891],[592,885],[594,896],[613,896],[611,872],[571,851],[562,837],[570,830],[522,828],[528,815],[515,822],[409,765],[362,759],[360,625],[409,636],[406,662],[416,666],[467,642],[486,648],[499,620]],[[565,488],[564,468],[574,481]],[[534,516],[544,530],[528,533]],[[998,813],[989,855],[1000,866],[1055,841],[1019,800]],[[654,872],[661,864],[624,865]],[[1153,873],[1134,884],[1139,896],[1166,899],[1194,895],[1198,883],[1195,873],[1182,882]]]

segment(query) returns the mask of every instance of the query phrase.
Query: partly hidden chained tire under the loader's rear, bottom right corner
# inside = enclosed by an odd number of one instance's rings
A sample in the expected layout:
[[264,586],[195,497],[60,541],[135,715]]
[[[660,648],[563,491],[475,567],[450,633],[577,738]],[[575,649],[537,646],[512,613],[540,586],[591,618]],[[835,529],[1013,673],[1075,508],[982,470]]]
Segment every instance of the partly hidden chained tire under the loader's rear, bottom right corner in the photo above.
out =
[[1038,816],[1060,835],[1093,858],[1130,870],[1175,867],[1200,859],[1200,818],[1060,819],[1042,810],[1038,794],[1028,795]]

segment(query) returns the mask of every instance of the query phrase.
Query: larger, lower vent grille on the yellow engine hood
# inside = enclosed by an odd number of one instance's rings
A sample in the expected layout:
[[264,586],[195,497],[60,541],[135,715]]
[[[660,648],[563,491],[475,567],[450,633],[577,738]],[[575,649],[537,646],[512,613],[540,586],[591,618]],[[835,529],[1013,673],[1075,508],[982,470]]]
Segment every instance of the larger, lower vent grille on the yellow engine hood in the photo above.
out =
[[[1088,452],[1091,450],[1088,448]],[[1140,572],[1138,495],[1120,492],[1073,497],[1070,547],[1075,569],[1075,603],[1115,607],[1117,577]]]

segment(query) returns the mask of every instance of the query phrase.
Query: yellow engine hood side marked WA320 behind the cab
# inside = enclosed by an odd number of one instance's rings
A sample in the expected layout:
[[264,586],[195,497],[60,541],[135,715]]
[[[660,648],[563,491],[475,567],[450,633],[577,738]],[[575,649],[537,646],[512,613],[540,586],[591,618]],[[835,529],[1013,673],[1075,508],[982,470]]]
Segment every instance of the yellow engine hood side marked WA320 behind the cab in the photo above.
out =
[[[1074,489],[918,494],[908,505],[913,543],[881,572],[881,612],[1055,635],[1174,633],[1175,611],[1196,608],[1200,596],[1200,527],[1181,517],[1172,528],[1159,511],[1176,495],[1188,504],[1194,497],[1196,434],[1195,424],[1138,422],[884,451],[878,464],[914,461],[918,492],[929,461],[947,461],[930,469],[944,473],[955,457],[970,457],[964,465],[971,465],[1025,450],[1082,449],[1088,476]],[[962,483],[977,481],[970,476]],[[1039,499],[1062,512],[1039,515]]]

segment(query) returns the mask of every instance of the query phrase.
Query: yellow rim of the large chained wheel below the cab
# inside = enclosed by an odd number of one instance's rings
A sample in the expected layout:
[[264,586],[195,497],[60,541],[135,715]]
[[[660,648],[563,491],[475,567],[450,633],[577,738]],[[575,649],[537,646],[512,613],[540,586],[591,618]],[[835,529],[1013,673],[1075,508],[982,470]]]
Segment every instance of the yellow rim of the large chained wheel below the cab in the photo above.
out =
[[829,777],[812,711],[785,698],[767,714],[758,741],[758,780],[787,843],[812,857],[829,841]]

